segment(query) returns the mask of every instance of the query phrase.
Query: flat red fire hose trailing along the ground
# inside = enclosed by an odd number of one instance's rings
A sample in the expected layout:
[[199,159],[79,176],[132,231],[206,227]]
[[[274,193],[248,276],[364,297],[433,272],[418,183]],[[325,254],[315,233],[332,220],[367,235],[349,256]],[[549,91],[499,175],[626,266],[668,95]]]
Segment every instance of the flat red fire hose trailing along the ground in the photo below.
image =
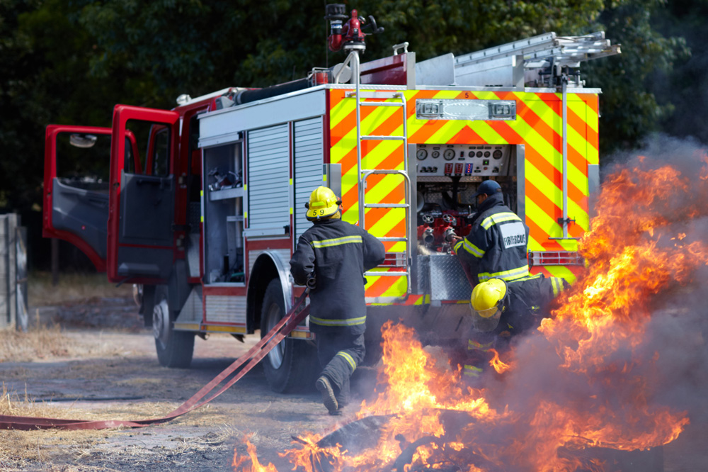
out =
[[[159,425],[161,423],[174,420],[176,417],[182,416],[192,410],[206,405],[210,401],[224,393],[229,387],[239,381],[248,371],[253,369],[268,352],[278,345],[285,337],[290,334],[295,327],[305,319],[309,313],[309,306],[304,307],[297,312],[297,309],[302,305],[304,299],[307,298],[309,288],[307,288],[302,296],[300,296],[285,316],[278,322],[272,330],[268,332],[261,341],[249,349],[243,356],[236,359],[233,364],[228,366],[224,371],[219,373],[209,383],[201,388],[197,393],[180,405],[176,410],[169,412],[166,416],[160,418],[152,418],[149,420],[105,420],[105,421],[84,421],[84,420],[62,420],[59,418],[42,418],[30,416],[12,416],[0,415],[0,429],[23,429],[25,431],[33,429],[105,429],[115,427],[130,427],[139,428],[150,425]],[[236,370],[241,369],[236,375],[230,378],[223,386],[219,386]],[[204,400],[207,395],[211,395]]]

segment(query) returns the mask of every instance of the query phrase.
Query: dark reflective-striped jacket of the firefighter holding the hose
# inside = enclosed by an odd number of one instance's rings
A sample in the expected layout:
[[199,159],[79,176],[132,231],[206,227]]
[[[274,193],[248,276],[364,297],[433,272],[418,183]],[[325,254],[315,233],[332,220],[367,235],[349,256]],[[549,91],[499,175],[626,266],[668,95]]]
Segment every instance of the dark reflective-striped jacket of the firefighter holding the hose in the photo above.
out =
[[364,272],[384,261],[384,245],[365,230],[338,219],[317,221],[299,237],[290,259],[295,283],[314,272],[310,291],[312,332],[364,332]]

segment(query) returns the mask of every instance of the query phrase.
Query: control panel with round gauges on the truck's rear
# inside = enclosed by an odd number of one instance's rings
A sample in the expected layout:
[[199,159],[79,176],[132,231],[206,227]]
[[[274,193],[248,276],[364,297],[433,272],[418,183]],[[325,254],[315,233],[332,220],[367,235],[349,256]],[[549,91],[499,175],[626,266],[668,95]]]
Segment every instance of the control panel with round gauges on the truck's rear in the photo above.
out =
[[416,174],[418,180],[507,175],[510,154],[510,145],[418,145]]

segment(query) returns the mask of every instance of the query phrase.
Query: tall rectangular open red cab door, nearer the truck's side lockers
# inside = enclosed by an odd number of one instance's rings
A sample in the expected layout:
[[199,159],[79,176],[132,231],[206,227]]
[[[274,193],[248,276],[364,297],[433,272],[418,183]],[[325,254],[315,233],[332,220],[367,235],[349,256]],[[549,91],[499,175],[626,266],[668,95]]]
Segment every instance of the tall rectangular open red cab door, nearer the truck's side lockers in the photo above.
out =
[[[108,279],[166,283],[175,257],[174,159],[179,115],[117,105],[113,110],[108,215]],[[126,145],[146,150],[144,167]]]

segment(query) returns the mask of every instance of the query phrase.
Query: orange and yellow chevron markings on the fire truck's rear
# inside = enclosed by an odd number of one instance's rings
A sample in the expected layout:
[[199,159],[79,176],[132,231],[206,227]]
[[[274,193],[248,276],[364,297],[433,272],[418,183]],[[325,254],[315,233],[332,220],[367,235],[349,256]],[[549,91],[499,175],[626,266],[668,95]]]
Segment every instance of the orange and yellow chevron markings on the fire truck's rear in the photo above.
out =
[[[344,90],[330,91],[330,159],[342,165],[343,218],[358,221],[358,175],[356,154],[355,99]],[[530,251],[575,251],[576,240],[556,239],[563,229],[562,96],[529,92],[496,91],[405,91],[410,143],[525,145],[524,186],[526,223],[530,227]],[[417,99],[514,100],[516,120],[418,120]],[[367,99],[375,101],[374,99]],[[392,100],[395,101],[395,100]],[[568,215],[575,220],[569,237],[588,230],[588,164],[598,163],[598,96],[567,96],[567,179]],[[361,107],[362,135],[401,135],[401,108]],[[363,169],[403,169],[404,152],[400,141],[363,141]],[[372,175],[367,179],[367,203],[403,203],[404,181],[400,176]],[[405,235],[402,209],[369,208],[366,227],[377,237]],[[401,252],[402,242],[387,242],[387,251]],[[393,269],[379,269],[393,270]],[[574,281],[572,269],[545,266],[548,275]],[[367,297],[405,295],[404,277],[370,277]]]

